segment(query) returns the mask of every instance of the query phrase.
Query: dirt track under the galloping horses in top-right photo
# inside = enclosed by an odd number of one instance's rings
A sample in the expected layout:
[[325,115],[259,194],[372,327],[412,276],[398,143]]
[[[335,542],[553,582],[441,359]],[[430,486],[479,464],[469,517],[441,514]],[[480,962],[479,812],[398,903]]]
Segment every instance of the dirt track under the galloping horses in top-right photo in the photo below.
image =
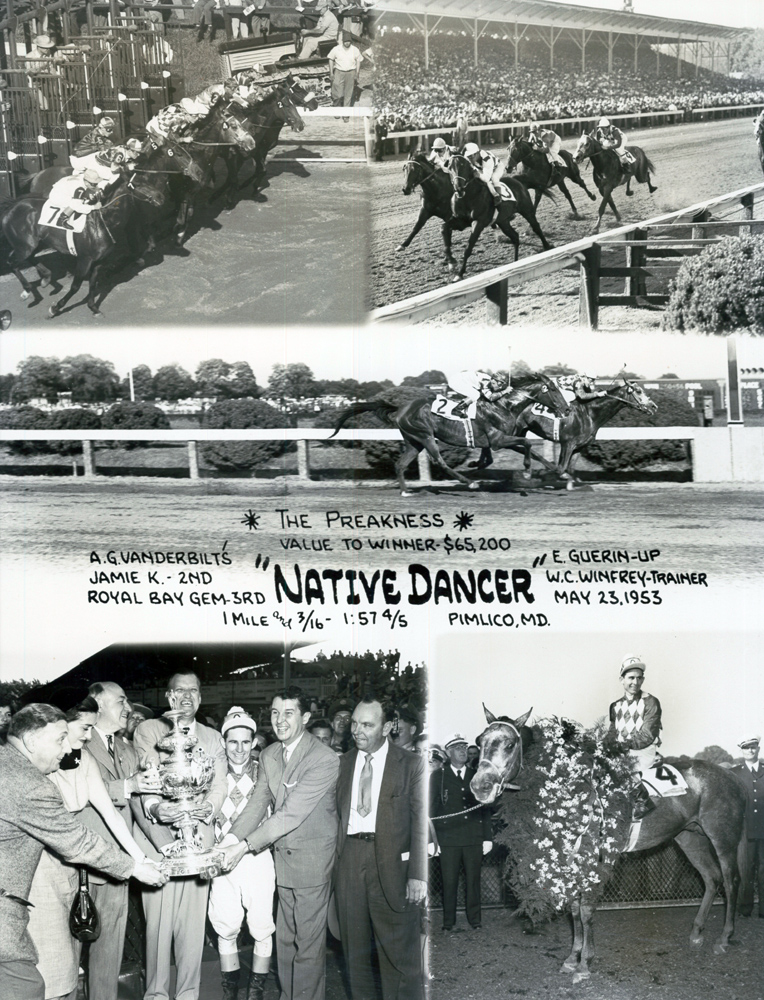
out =
[[[701,122],[641,131],[627,130],[630,143],[642,146],[654,161],[657,169],[655,183],[658,191],[650,195],[646,185],[633,185],[634,196],[626,198],[625,189],[618,188],[614,199],[624,223],[638,222],[666,212],[676,211],[687,205],[735,191],[761,181],[761,171],[756,159],[756,148],[747,118],[729,121]],[[575,149],[576,141],[568,139],[564,147]],[[504,154],[506,148],[497,146]],[[375,164],[373,167],[372,237],[370,256],[370,301],[374,307],[388,305],[420,292],[437,288],[450,280],[443,265],[443,241],[440,222],[430,220],[408,248],[396,253],[395,248],[408,235],[419,212],[418,196],[404,197],[401,173],[402,159]],[[584,171],[587,186],[594,189],[591,170]],[[542,200],[538,219],[551,243],[559,246],[590,235],[596,219],[596,202],[574,184],[569,185],[573,200],[584,216],[581,221],[571,218],[570,209],[562,195],[556,204]],[[541,246],[523,219],[517,221],[520,234],[520,256],[538,253]],[[603,220],[603,231],[612,228],[615,220],[608,211]],[[455,234],[454,248],[458,258],[467,236]],[[484,233],[467,266],[467,275],[476,274],[490,267],[511,261],[511,247],[496,243],[492,234]],[[577,289],[578,276],[561,272],[544,279],[544,294]],[[534,283],[540,286],[540,282]],[[521,293],[531,291],[525,286]],[[538,295],[538,291],[535,292]],[[536,317],[542,322],[560,322],[560,303],[555,313]],[[515,303],[520,309],[529,308],[528,300]],[[563,306],[564,307],[564,306]],[[572,321],[576,321],[578,304],[571,301]],[[519,312],[519,316],[523,316]],[[516,318],[516,317],[514,317]]]

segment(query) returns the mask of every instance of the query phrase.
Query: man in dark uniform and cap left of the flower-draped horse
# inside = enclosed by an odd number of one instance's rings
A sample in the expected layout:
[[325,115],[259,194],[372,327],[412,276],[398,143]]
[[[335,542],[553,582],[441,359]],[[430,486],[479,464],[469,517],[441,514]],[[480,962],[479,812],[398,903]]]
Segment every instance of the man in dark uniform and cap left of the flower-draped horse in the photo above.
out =
[[[459,871],[464,865],[467,921],[474,930],[482,922],[480,912],[480,867],[483,855],[493,847],[491,812],[475,809],[477,800],[470,789],[475,769],[467,764],[467,740],[454,733],[445,744],[449,763],[430,778],[430,817],[440,843],[440,870],[443,875],[443,930],[456,924],[456,893]],[[437,821],[438,816],[450,816]]]

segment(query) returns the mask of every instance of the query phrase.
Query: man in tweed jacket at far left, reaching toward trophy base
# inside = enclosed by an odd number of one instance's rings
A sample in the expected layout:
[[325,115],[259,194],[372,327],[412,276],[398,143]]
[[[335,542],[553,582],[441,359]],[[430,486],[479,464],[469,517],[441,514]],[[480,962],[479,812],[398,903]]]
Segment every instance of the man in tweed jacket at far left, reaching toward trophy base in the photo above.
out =
[[[29,891],[43,847],[71,864],[88,865],[118,879],[132,874],[155,882],[164,876],[136,864],[68,812],[45,775],[69,752],[64,713],[27,705],[12,719],[0,747],[0,997],[43,1000],[45,984],[27,931]],[[152,870],[153,869],[153,870]]]

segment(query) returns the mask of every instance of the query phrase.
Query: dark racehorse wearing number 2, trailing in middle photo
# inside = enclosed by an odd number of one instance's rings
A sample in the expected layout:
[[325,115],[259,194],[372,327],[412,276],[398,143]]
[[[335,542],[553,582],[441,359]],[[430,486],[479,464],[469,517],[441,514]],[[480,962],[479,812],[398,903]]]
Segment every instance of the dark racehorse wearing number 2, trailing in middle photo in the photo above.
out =
[[476,490],[480,488],[479,483],[470,481],[446,465],[437,442],[443,441],[461,447],[506,448],[513,441],[518,415],[526,406],[540,401],[555,413],[562,415],[568,411],[568,404],[552,379],[546,375],[529,374],[516,379],[511,391],[495,403],[481,400],[478,416],[474,420],[453,420],[439,416],[433,412],[433,400],[427,396],[417,397],[400,405],[376,399],[368,403],[354,403],[345,410],[334,425],[334,433],[341,430],[351,417],[361,413],[376,413],[398,427],[403,435],[404,448],[395,463],[398,485],[403,496],[409,495],[406,492],[404,471],[423,448],[433,462],[449,476],[469,489]]

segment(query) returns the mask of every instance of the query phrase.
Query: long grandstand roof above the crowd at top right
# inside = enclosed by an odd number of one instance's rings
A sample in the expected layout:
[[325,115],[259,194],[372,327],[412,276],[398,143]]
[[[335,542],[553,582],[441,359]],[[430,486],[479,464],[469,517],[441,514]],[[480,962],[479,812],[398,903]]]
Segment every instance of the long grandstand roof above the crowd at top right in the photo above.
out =
[[628,35],[685,41],[722,41],[746,29],[703,21],[681,21],[601,7],[579,7],[551,0],[376,0],[377,11],[433,17],[459,17],[503,24],[533,24],[554,28],[612,31]]

